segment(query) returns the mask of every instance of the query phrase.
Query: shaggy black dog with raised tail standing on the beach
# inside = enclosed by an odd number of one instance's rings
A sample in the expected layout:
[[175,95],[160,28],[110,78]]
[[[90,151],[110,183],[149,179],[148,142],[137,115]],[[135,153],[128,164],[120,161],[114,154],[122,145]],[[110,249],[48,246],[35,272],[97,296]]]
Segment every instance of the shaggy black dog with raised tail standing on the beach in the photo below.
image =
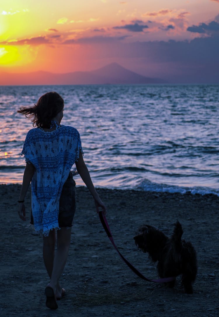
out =
[[[185,293],[192,294],[197,275],[196,251],[190,242],[181,240],[182,234],[182,226],[177,221],[171,238],[152,226],[143,225],[134,239],[138,248],[149,253],[153,262],[158,261],[160,278],[182,275]],[[174,287],[175,280],[166,284]]]

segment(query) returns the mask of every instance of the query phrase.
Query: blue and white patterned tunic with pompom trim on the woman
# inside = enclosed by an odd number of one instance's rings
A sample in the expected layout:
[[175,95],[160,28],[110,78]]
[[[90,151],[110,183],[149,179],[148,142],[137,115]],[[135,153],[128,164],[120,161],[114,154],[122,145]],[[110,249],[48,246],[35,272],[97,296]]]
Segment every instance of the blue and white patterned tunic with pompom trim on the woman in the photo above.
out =
[[35,167],[31,180],[34,228],[45,236],[59,229],[59,198],[80,151],[83,154],[80,135],[71,126],[57,126],[51,132],[34,128],[26,136],[21,154]]

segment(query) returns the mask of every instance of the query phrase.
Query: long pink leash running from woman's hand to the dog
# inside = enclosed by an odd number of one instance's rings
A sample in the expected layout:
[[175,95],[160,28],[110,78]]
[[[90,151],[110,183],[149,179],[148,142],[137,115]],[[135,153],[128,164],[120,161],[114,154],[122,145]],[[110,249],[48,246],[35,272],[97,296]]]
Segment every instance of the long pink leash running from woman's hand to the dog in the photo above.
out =
[[116,251],[118,252],[118,254],[121,256],[122,260],[128,265],[128,267],[135,273],[137,274],[139,277],[141,277],[143,280],[145,281],[149,281],[149,282],[155,282],[155,283],[166,283],[166,282],[171,282],[175,280],[175,277],[165,277],[165,278],[160,278],[158,280],[151,280],[148,279],[147,277],[145,277],[144,275],[142,275],[131,263],[129,263],[124,256],[122,256],[122,254],[119,252],[118,248],[116,247],[116,244],[113,241],[113,237],[112,234],[110,232],[109,229],[109,225],[107,223],[106,217],[103,216],[102,211],[99,211],[99,217],[100,217],[100,221],[103,225],[104,230],[107,233],[107,236],[109,237],[109,240],[111,241],[112,245],[114,246],[114,248],[116,249]]

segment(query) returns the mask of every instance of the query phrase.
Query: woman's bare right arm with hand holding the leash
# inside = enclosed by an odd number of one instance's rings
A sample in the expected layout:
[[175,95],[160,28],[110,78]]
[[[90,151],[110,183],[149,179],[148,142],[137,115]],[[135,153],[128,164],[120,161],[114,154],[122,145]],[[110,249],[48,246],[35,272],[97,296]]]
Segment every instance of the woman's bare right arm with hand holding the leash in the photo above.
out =
[[106,206],[103,204],[102,200],[100,199],[99,195],[97,194],[96,189],[94,188],[94,185],[91,180],[90,173],[87,169],[86,164],[84,163],[83,155],[81,152],[79,152],[79,158],[78,161],[75,162],[77,171],[82,178],[84,184],[87,186],[89,191],[91,192],[91,195],[93,196],[95,200],[96,210],[99,212],[99,207],[102,208],[103,216],[106,215]]

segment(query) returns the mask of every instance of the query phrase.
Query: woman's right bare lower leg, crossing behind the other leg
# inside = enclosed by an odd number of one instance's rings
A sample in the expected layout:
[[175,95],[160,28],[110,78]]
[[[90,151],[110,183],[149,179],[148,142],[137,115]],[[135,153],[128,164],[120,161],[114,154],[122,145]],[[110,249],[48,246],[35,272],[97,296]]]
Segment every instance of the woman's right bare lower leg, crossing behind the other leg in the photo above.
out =
[[53,260],[53,271],[51,276],[51,282],[47,285],[54,290],[56,297],[61,297],[62,289],[59,286],[59,278],[66,265],[68,251],[71,241],[71,229],[61,227],[57,230],[57,251]]

